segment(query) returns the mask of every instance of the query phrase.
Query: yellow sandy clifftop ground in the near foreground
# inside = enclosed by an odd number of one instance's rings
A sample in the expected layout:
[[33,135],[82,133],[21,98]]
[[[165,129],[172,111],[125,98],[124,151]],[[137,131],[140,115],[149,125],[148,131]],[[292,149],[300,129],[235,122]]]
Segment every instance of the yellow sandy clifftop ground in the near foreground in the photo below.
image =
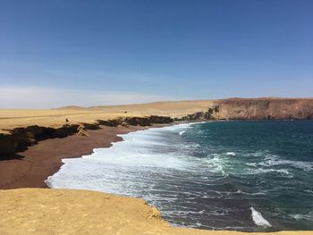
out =
[[[87,190],[0,190],[0,198],[0,234],[247,234],[173,228],[142,199]],[[313,231],[248,234],[312,235]]]

